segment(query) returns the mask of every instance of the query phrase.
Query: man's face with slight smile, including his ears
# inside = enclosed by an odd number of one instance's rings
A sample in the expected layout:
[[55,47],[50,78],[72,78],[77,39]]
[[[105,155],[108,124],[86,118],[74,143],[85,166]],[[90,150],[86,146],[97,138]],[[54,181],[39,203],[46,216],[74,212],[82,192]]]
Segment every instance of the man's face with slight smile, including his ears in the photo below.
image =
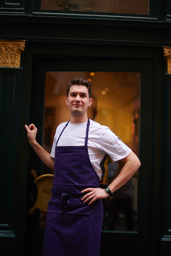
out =
[[84,115],[92,103],[92,99],[89,99],[87,87],[85,85],[72,85],[66,98],[66,103],[71,114],[76,116]]

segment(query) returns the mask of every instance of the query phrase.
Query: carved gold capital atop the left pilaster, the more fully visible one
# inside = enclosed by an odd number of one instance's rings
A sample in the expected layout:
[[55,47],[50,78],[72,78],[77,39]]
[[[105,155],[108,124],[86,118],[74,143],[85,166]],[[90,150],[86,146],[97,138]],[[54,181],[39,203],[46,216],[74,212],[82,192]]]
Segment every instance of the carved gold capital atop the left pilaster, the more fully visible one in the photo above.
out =
[[25,50],[25,40],[0,40],[0,67],[20,67],[21,52]]

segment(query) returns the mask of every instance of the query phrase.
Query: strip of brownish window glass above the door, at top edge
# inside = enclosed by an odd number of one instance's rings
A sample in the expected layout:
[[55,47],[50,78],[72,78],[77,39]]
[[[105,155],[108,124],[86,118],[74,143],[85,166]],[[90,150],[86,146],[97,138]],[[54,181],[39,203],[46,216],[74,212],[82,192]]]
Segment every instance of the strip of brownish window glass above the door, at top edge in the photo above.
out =
[[149,0],[41,0],[41,10],[149,14]]

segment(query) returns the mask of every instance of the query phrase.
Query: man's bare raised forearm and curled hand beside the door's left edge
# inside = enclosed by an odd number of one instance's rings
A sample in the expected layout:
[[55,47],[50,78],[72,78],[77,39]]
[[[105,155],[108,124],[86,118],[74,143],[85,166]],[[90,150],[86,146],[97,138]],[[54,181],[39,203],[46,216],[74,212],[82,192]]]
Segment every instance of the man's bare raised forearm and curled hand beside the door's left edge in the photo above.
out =
[[54,170],[55,159],[52,158],[50,154],[36,141],[36,126],[32,123],[29,126],[25,125],[25,129],[27,130],[28,142],[30,143],[36,154],[40,157],[42,162],[46,164],[47,167]]

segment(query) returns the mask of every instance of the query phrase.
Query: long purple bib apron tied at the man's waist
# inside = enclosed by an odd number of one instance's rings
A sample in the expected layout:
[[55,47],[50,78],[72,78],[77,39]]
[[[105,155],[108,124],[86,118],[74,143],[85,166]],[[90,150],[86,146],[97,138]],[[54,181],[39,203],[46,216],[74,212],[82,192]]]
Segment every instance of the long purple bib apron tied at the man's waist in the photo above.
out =
[[88,205],[81,200],[83,189],[99,187],[99,178],[89,160],[88,131],[89,120],[84,146],[55,148],[55,173],[47,208],[43,256],[100,254],[102,202],[96,200]]

